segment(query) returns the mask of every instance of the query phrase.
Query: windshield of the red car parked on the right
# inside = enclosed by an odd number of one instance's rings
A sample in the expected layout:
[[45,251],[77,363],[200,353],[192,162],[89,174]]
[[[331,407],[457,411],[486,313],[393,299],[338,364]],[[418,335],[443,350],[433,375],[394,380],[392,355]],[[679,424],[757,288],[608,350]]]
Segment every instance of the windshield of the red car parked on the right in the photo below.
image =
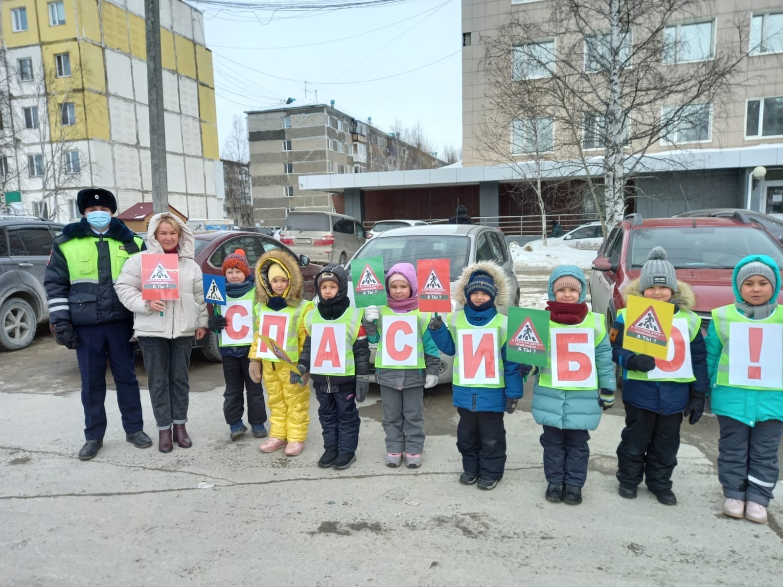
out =
[[742,257],[765,254],[778,266],[783,250],[760,229],[739,226],[662,227],[634,229],[630,234],[630,265],[641,267],[653,247],[662,245],[675,268],[733,269]]

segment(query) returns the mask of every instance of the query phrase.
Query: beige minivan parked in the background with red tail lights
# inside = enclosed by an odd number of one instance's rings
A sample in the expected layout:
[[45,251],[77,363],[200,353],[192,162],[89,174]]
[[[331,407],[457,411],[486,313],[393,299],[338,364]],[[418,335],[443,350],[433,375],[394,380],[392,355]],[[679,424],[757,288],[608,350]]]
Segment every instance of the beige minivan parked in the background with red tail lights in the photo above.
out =
[[345,265],[366,240],[362,223],[335,212],[289,212],[280,242],[317,263]]

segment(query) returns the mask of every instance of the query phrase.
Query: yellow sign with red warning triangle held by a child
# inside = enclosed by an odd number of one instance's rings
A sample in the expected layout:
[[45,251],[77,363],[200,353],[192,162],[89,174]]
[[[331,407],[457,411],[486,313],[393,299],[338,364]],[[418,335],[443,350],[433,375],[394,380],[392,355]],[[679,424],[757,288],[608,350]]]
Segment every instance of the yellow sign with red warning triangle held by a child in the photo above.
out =
[[629,296],[622,347],[651,357],[666,358],[673,317],[673,304]]

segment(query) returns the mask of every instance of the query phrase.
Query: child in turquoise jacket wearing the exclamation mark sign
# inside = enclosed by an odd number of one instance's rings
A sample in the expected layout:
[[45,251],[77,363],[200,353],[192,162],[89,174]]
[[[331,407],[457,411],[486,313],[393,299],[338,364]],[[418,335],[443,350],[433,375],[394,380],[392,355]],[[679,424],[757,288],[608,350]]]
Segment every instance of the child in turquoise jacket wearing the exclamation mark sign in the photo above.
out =
[[[783,434],[783,385],[780,364],[781,339],[758,340],[772,358],[759,357],[757,365],[742,364],[749,380],[731,383],[730,348],[742,349],[754,361],[749,344],[749,325],[773,329],[783,324],[783,308],[778,305],[781,274],[767,255],[750,255],[734,268],[734,304],[713,310],[707,331],[707,369],[712,383],[710,404],[720,423],[718,480],[723,486],[723,513],[731,517],[767,523],[767,506],[778,484],[778,449]],[[734,326],[734,329],[732,329]],[[779,332],[779,330],[778,330]],[[729,337],[739,337],[729,345]],[[745,350],[746,349],[746,350]],[[756,359],[758,360],[758,359]],[[778,379],[770,381],[774,368]],[[772,372],[770,373],[770,369]],[[758,381],[757,385],[753,383]]]

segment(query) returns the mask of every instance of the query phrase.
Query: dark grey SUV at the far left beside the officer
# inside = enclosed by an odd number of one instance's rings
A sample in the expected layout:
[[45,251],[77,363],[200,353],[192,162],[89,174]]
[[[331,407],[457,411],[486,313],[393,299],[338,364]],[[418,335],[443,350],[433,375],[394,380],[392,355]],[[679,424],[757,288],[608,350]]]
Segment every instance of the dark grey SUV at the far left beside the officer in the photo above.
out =
[[38,322],[49,320],[44,274],[58,222],[24,216],[0,216],[0,348],[29,346]]

